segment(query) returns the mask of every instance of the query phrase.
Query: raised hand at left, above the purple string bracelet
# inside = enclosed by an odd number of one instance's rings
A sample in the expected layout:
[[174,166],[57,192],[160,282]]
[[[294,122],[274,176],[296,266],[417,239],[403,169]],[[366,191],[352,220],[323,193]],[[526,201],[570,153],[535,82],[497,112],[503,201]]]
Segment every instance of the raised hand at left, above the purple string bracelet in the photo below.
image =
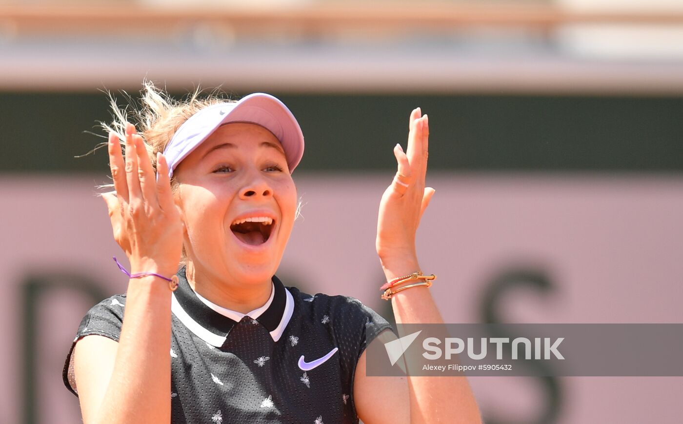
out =
[[173,202],[166,158],[156,154],[158,181],[142,137],[126,124],[126,157],[119,137],[109,133],[109,165],[116,193],[102,195],[114,239],[130,261],[130,273],[171,277],[182,251],[182,222]]

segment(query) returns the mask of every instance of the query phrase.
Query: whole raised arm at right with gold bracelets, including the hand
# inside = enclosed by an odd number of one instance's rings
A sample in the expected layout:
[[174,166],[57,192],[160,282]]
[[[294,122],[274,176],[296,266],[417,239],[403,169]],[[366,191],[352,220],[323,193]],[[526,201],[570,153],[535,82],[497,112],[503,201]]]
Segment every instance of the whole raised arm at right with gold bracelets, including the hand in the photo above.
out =
[[[422,214],[434,195],[434,189],[425,186],[428,144],[428,117],[421,116],[418,108],[410,114],[406,152],[400,145],[394,147],[398,171],[380,202],[376,249],[387,281],[421,271],[415,250],[415,234]],[[391,305],[398,324],[443,324],[428,287],[402,290],[391,296]],[[365,362],[365,358],[361,357],[361,360]],[[410,363],[407,366],[410,369]],[[360,378],[359,372],[363,373]],[[357,403],[361,404],[359,413],[364,410],[367,414],[361,419],[368,424],[390,422],[383,417],[385,404],[395,406],[389,414],[404,411],[399,409],[402,408],[401,404],[408,404],[409,412],[406,415],[413,424],[469,424],[482,421],[465,377],[410,376],[408,373],[408,377],[402,380],[395,377],[367,377],[364,374],[365,367],[357,371],[355,384],[361,384],[358,393],[362,394],[363,399],[358,399]],[[387,381],[392,384],[387,384]],[[407,399],[404,394],[406,391]],[[368,412],[370,410],[372,412]]]

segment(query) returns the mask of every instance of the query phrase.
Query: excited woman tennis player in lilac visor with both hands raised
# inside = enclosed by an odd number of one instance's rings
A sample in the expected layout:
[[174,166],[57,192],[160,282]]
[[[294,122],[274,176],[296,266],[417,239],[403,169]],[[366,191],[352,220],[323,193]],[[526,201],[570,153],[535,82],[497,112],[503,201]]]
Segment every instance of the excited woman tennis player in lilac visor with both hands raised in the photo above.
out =
[[[304,147],[282,102],[196,92],[177,102],[151,83],[142,99],[138,128],[120,112],[109,127],[115,193],[102,195],[128,289],[87,313],[64,368],[84,423],[480,422],[464,377],[365,375],[367,343],[396,339],[372,309],[275,276]],[[398,323],[443,322],[415,250],[434,194],[428,134],[415,109],[379,209],[376,249]]]

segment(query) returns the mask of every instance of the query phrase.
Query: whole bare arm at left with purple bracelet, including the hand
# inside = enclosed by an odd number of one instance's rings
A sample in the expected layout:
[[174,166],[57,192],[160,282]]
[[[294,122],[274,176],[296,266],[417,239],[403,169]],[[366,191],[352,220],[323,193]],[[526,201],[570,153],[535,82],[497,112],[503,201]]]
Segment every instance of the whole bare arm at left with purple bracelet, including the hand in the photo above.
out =
[[[168,167],[157,157],[158,181],[142,138],[126,126],[126,158],[119,138],[109,135],[109,161],[116,195],[105,194],[115,240],[132,273],[176,273],[182,223],[171,195]],[[76,343],[74,373],[83,421],[171,421],[171,290],[154,276],[128,282],[117,342],[87,336]]]

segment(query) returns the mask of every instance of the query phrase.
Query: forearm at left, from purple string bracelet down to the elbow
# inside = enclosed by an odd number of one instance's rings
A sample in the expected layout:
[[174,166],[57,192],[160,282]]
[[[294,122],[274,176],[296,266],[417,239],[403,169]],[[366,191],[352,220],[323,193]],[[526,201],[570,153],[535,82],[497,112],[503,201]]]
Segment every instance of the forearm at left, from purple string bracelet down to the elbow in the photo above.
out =
[[94,423],[169,423],[170,350],[167,282],[150,276],[130,279],[113,373]]

